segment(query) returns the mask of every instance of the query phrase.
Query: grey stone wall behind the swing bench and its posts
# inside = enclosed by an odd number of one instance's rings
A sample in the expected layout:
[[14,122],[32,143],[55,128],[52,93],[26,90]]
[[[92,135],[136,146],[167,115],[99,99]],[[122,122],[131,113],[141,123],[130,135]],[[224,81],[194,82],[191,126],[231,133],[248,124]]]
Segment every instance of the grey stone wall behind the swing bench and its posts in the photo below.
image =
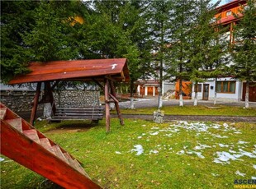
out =
[[[35,91],[9,91],[1,90],[1,102],[14,112],[31,111]],[[42,93],[40,94],[41,99]],[[100,104],[100,92],[98,90],[59,90],[54,93],[57,107],[83,108]],[[43,104],[39,104],[38,110],[42,110]]]

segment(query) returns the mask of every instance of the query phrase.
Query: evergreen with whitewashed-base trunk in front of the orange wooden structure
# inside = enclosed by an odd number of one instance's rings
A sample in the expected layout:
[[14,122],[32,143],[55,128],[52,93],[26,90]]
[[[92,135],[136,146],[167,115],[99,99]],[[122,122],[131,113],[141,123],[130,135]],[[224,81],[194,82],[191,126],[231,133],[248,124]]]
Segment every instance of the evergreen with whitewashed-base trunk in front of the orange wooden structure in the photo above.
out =
[[179,82],[179,106],[183,106],[183,81],[190,80],[190,67],[187,62],[190,59],[190,43],[192,25],[195,21],[196,2],[192,0],[173,1],[171,16],[172,27],[170,35],[170,62],[168,76],[176,76]]

